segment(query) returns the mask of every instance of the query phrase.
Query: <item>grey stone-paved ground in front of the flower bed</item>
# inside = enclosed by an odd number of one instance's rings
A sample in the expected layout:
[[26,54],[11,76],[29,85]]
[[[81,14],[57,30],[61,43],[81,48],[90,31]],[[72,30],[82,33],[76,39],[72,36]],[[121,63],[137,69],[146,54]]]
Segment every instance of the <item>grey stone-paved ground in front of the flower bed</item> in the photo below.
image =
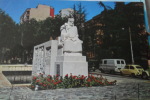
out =
[[39,91],[17,86],[0,88],[0,100],[150,100],[149,98],[150,83]]

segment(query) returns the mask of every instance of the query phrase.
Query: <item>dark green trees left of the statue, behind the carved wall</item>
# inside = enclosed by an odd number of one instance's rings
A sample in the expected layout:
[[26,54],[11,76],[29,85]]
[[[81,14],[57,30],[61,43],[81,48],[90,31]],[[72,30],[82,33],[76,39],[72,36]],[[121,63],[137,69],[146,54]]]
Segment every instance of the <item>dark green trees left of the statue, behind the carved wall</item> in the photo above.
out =
[[[28,62],[33,56],[33,47],[60,36],[60,26],[67,22],[67,18],[59,15],[55,18],[36,21],[31,19],[22,24],[15,22],[0,9],[0,61],[17,59]],[[7,63],[7,62],[6,62]]]

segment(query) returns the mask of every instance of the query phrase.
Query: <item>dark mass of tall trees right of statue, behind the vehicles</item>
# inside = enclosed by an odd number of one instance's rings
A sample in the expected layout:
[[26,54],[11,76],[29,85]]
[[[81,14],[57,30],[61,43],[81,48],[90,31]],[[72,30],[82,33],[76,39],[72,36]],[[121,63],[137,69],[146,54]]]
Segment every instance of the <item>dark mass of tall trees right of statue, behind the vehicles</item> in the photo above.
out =
[[[142,4],[125,5],[123,2],[116,2],[114,9],[103,2],[99,2],[99,5],[104,8],[104,11],[95,16],[91,22],[89,21],[91,24],[85,29],[86,51],[93,52],[95,54],[93,59],[98,61],[104,58],[122,58],[127,63],[132,63],[129,39],[129,31],[131,31],[134,60],[135,63],[142,64],[142,60],[147,59],[148,47],[147,34],[143,34],[145,27]],[[99,30],[103,31],[103,35],[98,34]]]

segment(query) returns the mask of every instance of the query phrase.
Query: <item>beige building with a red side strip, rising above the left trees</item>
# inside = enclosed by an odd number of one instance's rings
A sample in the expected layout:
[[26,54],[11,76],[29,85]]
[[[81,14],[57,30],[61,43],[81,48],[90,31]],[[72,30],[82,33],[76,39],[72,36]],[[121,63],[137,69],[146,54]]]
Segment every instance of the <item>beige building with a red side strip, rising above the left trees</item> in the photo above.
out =
[[47,5],[38,5],[36,8],[28,8],[20,17],[20,23],[31,20],[45,20],[48,17],[54,18],[54,8]]

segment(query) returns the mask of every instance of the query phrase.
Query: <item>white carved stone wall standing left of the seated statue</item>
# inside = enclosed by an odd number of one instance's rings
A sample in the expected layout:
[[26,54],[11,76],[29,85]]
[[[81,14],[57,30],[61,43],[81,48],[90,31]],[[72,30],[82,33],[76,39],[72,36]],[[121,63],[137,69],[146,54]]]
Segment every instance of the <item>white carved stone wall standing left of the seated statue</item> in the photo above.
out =
[[51,40],[34,46],[32,75],[40,73],[56,75],[57,40]]

